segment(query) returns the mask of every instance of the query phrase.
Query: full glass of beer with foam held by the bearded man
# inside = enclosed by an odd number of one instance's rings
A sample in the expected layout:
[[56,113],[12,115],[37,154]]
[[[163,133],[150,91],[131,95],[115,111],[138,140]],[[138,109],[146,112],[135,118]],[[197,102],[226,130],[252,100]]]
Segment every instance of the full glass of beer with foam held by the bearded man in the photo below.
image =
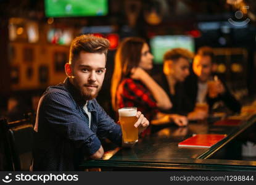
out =
[[125,107],[118,109],[119,121],[123,133],[123,142],[126,144],[133,144],[138,142],[138,128],[134,126],[134,123],[138,120],[136,117],[136,107]]

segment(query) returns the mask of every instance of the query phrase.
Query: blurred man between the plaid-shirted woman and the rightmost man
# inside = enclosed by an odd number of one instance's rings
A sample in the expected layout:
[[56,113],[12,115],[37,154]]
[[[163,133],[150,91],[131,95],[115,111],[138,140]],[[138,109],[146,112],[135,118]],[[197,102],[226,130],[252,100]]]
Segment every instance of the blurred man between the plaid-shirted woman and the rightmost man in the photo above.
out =
[[163,73],[154,76],[155,80],[165,89],[173,107],[169,113],[185,115],[188,120],[202,120],[207,112],[193,111],[193,105],[184,89],[184,80],[189,75],[189,60],[194,54],[187,49],[175,48],[165,52],[163,56]]

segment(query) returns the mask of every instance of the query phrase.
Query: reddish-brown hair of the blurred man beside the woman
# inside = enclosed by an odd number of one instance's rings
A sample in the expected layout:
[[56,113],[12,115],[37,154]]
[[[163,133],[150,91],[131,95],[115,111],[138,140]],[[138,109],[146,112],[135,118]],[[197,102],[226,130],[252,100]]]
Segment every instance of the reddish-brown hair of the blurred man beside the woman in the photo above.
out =
[[180,58],[190,60],[193,57],[194,57],[194,54],[191,51],[188,51],[188,49],[175,48],[165,52],[165,55],[163,56],[163,61],[166,61],[166,60],[176,61]]

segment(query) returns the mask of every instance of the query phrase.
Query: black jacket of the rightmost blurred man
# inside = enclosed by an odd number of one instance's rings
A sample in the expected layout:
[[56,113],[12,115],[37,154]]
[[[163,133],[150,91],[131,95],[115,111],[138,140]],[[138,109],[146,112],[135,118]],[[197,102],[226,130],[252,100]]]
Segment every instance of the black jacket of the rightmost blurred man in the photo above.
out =
[[[221,80],[221,78],[219,78]],[[198,77],[192,73],[186,78],[185,88],[186,92],[189,96],[190,101],[192,102],[193,107],[196,105],[197,92],[198,92]],[[233,112],[240,112],[241,104],[236,100],[236,98],[229,92],[228,87],[225,82],[221,80],[221,83],[225,87],[225,92],[223,94],[219,94],[216,98],[210,98],[207,94],[207,102],[209,107],[211,108],[215,102],[222,101]]]

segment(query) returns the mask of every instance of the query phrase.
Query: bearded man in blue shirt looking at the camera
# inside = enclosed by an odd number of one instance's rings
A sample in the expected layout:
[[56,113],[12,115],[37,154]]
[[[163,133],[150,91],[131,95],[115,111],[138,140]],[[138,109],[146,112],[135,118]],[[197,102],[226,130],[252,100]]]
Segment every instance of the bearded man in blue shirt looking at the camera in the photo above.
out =
[[[33,170],[79,170],[84,158],[101,158],[99,138],[122,144],[120,126],[97,103],[101,89],[109,41],[81,35],[72,41],[70,59],[65,64],[64,83],[46,89],[36,113]],[[149,121],[141,112],[134,126],[142,132]]]

